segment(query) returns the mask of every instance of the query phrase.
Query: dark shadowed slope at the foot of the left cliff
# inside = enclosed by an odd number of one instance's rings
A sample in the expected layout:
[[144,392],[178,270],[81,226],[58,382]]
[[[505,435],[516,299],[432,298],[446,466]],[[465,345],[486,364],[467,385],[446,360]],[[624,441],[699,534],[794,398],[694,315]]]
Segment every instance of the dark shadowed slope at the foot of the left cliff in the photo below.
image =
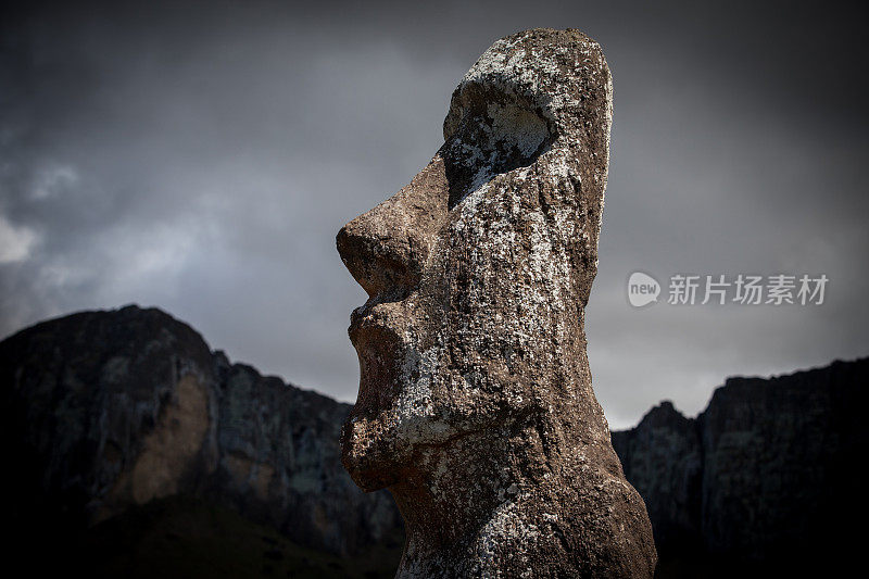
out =
[[86,576],[125,579],[373,579],[394,576],[401,557],[399,540],[364,555],[341,558],[302,547],[228,508],[190,498],[172,498],[130,509],[79,534],[67,562]]

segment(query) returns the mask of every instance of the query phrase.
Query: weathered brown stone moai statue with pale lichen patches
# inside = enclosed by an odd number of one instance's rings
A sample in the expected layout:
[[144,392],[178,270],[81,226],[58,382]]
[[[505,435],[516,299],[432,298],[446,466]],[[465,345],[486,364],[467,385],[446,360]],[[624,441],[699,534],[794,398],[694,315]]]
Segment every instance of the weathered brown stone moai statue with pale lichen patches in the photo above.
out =
[[455,89],[434,159],[338,234],[369,295],[343,464],[395,498],[399,577],[653,576],[583,330],[612,103],[583,34],[502,38]]

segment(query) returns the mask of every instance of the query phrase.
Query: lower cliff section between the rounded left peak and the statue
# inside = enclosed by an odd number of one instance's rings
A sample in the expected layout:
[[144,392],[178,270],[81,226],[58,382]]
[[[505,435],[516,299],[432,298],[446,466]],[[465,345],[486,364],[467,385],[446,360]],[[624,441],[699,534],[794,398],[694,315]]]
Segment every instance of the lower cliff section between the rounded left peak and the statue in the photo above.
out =
[[360,492],[338,444],[350,405],[215,355],[218,467],[207,491],[297,542],[357,553],[401,528],[392,498]]

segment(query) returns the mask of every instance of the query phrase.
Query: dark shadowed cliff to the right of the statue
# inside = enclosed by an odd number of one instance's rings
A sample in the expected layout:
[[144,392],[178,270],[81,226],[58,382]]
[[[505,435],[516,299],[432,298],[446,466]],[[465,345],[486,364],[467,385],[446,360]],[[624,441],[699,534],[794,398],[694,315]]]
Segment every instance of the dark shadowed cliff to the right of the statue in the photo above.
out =
[[614,432],[662,558],[693,552],[829,571],[854,557],[851,527],[867,514],[857,468],[869,450],[867,379],[869,358],[730,378],[697,418],[664,403]]

